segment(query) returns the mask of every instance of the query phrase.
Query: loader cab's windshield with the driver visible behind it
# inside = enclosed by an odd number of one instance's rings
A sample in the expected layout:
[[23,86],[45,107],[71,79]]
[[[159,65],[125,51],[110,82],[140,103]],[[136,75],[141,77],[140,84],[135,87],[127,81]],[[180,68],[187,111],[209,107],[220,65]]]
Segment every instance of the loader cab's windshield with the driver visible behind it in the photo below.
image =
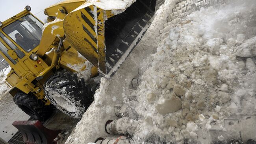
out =
[[31,14],[23,16],[19,20],[9,24],[3,29],[22,49],[30,52],[39,45],[42,37],[43,23],[39,22]]

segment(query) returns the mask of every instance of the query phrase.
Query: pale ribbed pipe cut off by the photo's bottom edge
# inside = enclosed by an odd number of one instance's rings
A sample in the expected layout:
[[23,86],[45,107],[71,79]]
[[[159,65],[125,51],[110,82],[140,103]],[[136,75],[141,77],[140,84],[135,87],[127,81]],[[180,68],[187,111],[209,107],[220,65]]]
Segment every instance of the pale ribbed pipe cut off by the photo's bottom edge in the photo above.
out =
[[95,141],[96,144],[130,144],[130,140],[126,139],[125,136],[120,136],[117,139],[115,138],[98,138]]

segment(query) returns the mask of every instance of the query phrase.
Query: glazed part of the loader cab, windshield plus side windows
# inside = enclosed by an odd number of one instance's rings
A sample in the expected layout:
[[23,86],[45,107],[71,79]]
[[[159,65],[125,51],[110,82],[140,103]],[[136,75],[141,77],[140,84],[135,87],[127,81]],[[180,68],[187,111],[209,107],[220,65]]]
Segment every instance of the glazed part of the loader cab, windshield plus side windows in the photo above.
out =
[[[15,21],[1,28],[0,48],[11,63],[15,64],[15,59],[11,58],[12,56],[9,56],[7,51],[14,50],[20,59],[26,55],[25,53],[32,52],[40,43],[43,23],[32,16],[32,14],[11,19]],[[4,44],[8,46],[6,47]]]

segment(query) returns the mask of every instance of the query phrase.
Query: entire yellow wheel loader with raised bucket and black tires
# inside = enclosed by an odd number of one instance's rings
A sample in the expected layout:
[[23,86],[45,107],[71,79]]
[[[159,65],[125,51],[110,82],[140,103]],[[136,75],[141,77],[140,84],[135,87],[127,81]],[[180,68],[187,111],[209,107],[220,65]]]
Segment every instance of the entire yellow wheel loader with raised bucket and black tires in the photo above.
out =
[[30,6],[0,22],[0,54],[11,67],[6,84],[14,102],[40,121],[55,107],[81,118],[100,77],[113,76],[163,2],[65,0],[45,9],[46,24]]

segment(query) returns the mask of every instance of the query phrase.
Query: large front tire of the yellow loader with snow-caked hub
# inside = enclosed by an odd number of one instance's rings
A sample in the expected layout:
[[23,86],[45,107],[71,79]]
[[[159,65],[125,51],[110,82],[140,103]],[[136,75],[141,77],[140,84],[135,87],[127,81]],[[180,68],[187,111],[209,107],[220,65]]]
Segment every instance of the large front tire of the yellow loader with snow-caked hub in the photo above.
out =
[[[96,87],[95,87],[96,85]],[[97,84],[87,84],[76,74],[67,71],[56,72],[44,84],[46,98],[61,112],[81,119],[83,113],[94,101]]]

